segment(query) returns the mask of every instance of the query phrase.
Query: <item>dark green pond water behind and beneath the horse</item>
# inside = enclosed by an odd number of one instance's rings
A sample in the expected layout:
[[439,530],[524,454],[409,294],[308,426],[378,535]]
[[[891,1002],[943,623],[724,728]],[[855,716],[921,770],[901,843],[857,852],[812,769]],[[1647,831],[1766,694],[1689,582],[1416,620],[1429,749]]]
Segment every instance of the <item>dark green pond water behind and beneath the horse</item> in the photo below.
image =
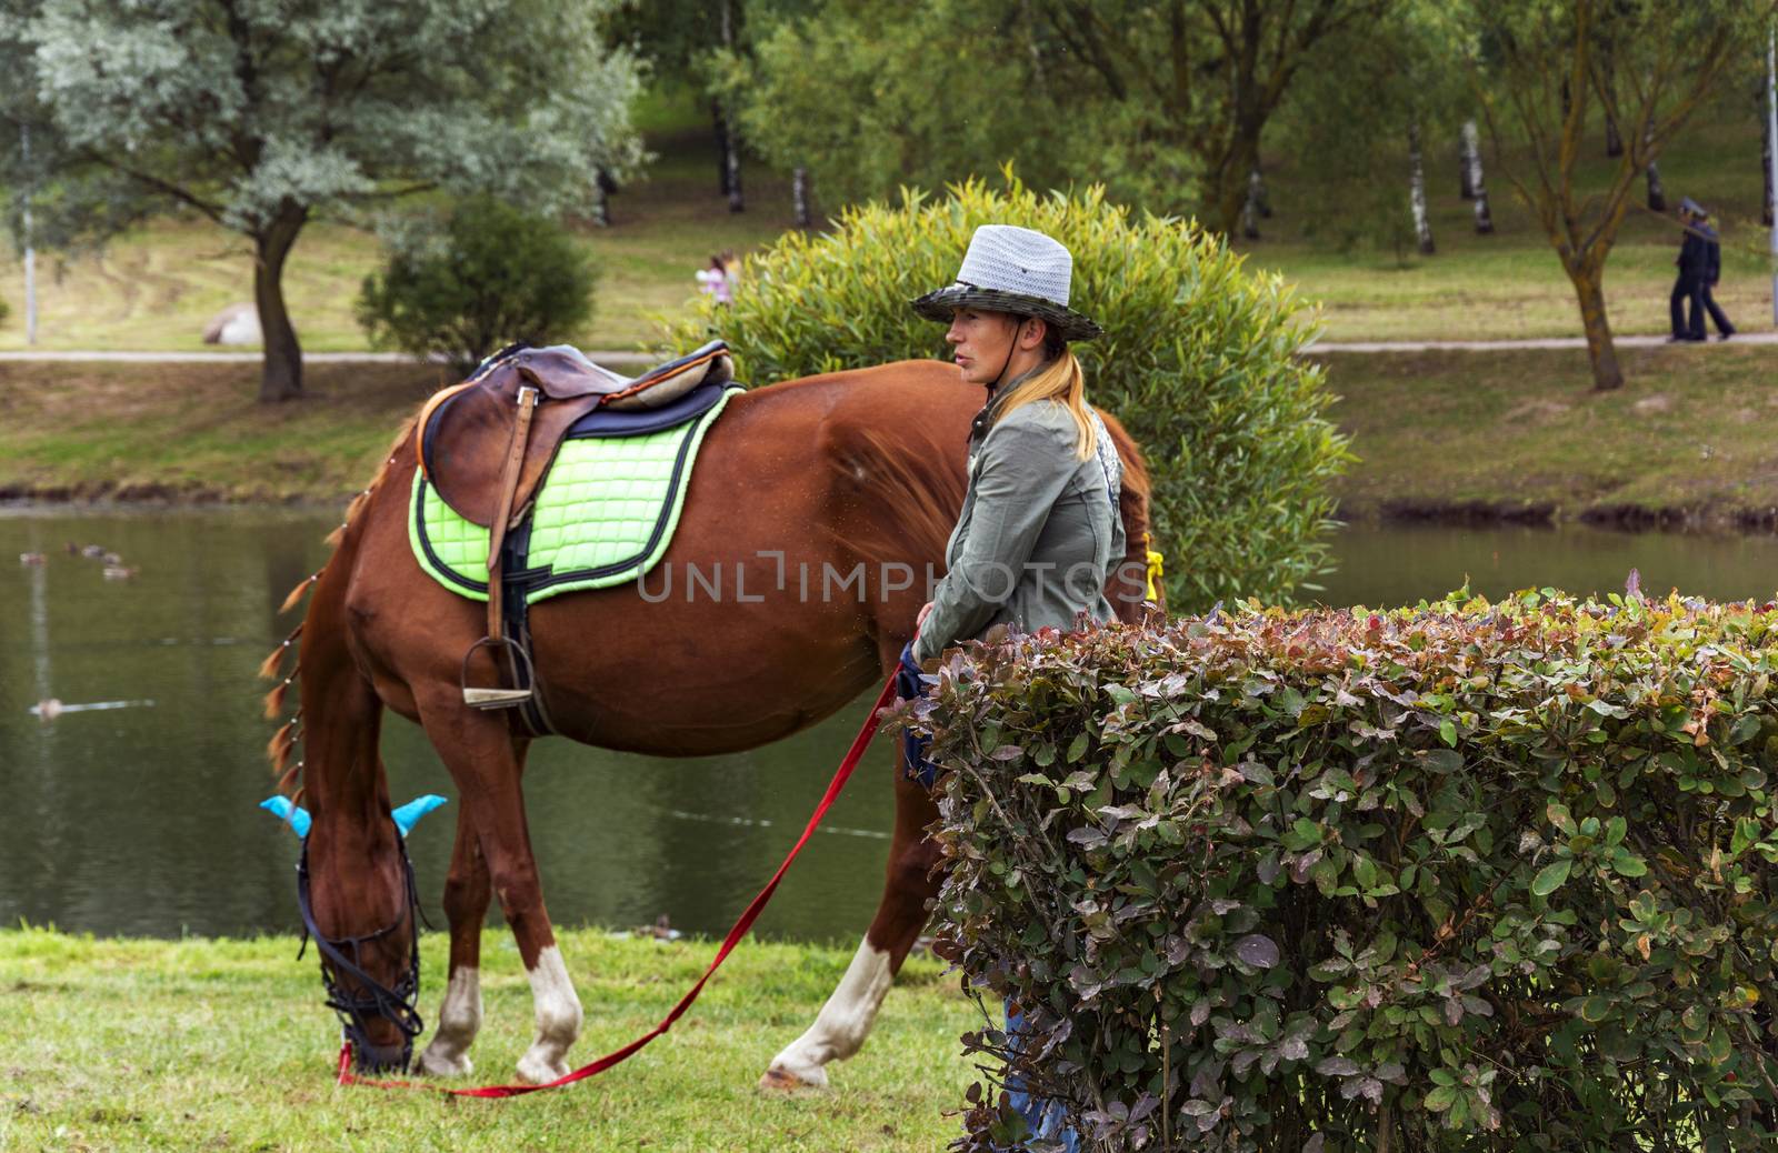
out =
[[[292,627],[284,593],[325,560],[334,517],[283,510],[0,512],[0,924],[100,934],[293,933],[295,839],[270,789],[254,670]],[[98,544],[130,579],[68,551]],[[1591,529],[1353,526],[1330,604],[1398,604],[1463,583],[1771,597],[1778,540]],[[21,565],[21,553],[46,563]],[[1177,561],[1175,561],[1177,563]],[[39,700],[64,704],[41,721]],[[777,867],[868,700],[779,744],[693,760],[541,741],[525,775],[549,911],[720,934]],[[386,727],[395,798],[453,796],[412,725]],[[798,858],[759,931],[852,943],[887,851],[878,748]],[[411,840],[434,924],[453,808]]]

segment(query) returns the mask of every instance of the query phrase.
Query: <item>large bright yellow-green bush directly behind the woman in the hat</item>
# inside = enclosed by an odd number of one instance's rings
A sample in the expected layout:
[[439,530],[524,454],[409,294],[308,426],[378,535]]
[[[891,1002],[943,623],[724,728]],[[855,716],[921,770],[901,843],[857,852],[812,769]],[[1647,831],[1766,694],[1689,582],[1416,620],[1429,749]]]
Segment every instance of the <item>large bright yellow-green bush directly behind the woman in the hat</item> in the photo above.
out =
[[850,208],[832,233],[786,233],[749,259],[734,304],[702,302],[674,345],[720,336],[757,382],[949,359],[944,329],[907,302],[951,282],[978,224],[1022,224],[1072,250],[1072,302],[1106,329],[1076,352],[1092,400],[1147,453],[1170,604],[1287,599],[1325,570],[1326,485],[1350,457],[1323,416],[1321,370],[1294,355],[1307,309],[1216,236],[1136,217],[1099,188],[1038,195],[1008,176],[1006,192],[973,181],[939,201]]

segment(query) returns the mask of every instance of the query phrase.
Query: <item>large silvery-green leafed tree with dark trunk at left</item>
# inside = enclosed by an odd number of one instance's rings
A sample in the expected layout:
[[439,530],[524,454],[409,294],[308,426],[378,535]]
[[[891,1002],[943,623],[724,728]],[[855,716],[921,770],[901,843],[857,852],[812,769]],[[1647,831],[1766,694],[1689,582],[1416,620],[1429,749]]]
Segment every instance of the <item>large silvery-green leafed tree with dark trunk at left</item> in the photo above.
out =
[[[0,0],[55,133],[66,236],[169,208],[244,235],[260,398],[302,393],[283,270],[302,229],[428,190],[590,208],[640,160],[613,0]],[[0,21],[4,23],[4,21]],[[548,36],[539,36],[548,28]]]

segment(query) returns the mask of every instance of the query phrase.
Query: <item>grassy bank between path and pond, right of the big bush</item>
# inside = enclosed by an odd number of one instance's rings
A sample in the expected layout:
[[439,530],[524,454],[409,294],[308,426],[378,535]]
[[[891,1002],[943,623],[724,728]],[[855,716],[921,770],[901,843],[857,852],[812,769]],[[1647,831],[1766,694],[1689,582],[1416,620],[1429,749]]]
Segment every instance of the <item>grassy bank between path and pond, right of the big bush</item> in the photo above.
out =
[[1778,506],[1769,348],[1622,350],[1595,393],[1586,354],[1328,354],[1334,419],[1360,462],[1348,513],[1392,503],[1552,503],[1728,512]]

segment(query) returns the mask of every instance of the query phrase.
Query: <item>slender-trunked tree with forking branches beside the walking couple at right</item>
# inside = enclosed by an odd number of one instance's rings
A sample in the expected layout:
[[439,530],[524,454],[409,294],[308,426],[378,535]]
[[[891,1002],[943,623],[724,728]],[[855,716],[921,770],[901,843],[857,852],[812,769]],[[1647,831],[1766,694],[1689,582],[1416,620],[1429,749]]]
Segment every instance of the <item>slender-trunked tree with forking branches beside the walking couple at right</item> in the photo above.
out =
[[[1478,0],[1469,9],[1469,75],[1495,169],[1536,213],[1574,284],[1597,389],[1623,384],[1604,277],[1636,179],[1654,172],[1661,147],[1771,12],[1771,0]],[[1575,167],[1595,101],[1622,126],[1623,155],[1607,187],[1588,195]],[[1524,160],[1506,163],[1508,146]]]

